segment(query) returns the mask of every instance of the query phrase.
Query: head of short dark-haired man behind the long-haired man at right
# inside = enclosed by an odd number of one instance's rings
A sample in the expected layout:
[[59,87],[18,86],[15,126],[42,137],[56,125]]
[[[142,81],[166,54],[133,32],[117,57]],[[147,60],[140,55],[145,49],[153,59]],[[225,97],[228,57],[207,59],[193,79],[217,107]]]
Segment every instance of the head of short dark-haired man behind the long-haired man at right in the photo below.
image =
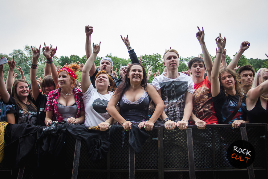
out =
[[237,74],[244,90],[244,94],[247,94],[248,91],[251,89],[252,82],[255,76],[255,70],[252,68],[251,65],[244,65],[240,67]]

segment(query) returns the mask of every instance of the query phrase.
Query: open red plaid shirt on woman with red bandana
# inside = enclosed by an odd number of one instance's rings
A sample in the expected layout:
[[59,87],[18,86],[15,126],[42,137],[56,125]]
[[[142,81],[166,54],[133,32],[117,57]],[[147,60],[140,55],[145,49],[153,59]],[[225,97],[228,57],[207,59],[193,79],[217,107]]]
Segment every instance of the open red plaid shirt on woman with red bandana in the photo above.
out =
[[[58,103],[58,99],[59,99],[59,90],[61,88],[58,88],[57,90],[53,90],[51,91],[48,96],[47,96],[47,105],[46,105],[46,109],[45,111],[54,111],[53,116],[52,116],[52,120],[53,121],[63,121],[62,115],[59,113],[58,109],[57,109],[57,103]],[[73,88],[74,90],[74,95],[75,95],[75,101],[76,101],[76,105],[77,105],[77,114],[75,116],[75,118],[79,118],[80,117],[80,112],[85,110],[84,107],[84,102],[82,99],[82,90]]]

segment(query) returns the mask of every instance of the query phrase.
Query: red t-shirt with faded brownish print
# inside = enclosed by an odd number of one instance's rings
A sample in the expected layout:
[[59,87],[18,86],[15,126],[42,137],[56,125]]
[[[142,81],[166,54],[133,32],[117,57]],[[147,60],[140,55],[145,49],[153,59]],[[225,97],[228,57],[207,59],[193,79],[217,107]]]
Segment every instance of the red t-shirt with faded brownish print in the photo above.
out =
[[[193,114],[207,124],[218,124],[212,102],[211,83],[209,82],[208,77],[205,77],[201,83],[194,84]],[[190,125],[195,125],[195,122],[190,121]]]

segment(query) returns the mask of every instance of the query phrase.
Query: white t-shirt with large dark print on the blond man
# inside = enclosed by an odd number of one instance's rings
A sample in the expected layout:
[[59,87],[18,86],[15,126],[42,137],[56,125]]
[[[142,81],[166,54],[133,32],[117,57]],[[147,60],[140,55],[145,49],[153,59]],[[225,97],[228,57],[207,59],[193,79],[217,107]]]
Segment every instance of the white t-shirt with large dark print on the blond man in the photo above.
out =
[[180,121],[183,118],[185,107],[185,93],[194,92],[194,83],[191,77],[184,73],[179,73],[179,77],[171,79],[164,74],[155,77],[152,85],[156,90],[161,89],[161,98],[165,104],[165,113],[172,121]]

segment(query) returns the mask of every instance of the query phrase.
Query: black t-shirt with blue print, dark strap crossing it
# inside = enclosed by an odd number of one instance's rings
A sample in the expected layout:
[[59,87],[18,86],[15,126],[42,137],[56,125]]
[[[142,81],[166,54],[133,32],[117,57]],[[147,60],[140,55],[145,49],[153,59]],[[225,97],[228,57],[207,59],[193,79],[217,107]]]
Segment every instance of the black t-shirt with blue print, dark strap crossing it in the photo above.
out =
[[[226,96],[222,90],[217,96],[212,97],[219,124],[223,124],[224,121],[233,113],[238,105],[238,100],[238,94],[234,96]],[[232,124],[234,120],[246,121],[246,95],[243,95],[241,106],[233,119],[229,121],[229,124]]]

